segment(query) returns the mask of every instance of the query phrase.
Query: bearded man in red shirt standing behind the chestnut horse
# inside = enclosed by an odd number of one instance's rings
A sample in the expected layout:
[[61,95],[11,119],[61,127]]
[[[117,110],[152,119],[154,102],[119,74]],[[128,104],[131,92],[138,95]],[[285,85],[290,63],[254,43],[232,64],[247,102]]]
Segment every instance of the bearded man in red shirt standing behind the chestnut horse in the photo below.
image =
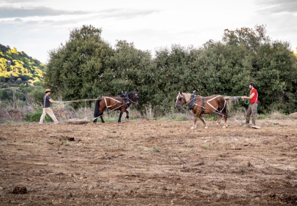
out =
[[249,116],[251,114],[251,121],[252,125],[256,125],[256,110],[257,110],[257,103],[258,103],[258,92],[255,89],[255,84],[253,82],[248,84],[248,87],[250,89],[249,97],[244,96],[241,97],[242,100],[247,99],[250,100],[250,104],[247,109],[247,118],[246,123],[249,124]]

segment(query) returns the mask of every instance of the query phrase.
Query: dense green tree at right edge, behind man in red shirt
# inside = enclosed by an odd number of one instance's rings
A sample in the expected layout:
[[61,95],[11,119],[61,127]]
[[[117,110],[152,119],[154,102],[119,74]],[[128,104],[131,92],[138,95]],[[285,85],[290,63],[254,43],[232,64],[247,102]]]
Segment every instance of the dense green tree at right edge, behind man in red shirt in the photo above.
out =
[[279,41],[262,45],[256,62],[255,81],[264,110],[296,111],[297,60],[290,45]]

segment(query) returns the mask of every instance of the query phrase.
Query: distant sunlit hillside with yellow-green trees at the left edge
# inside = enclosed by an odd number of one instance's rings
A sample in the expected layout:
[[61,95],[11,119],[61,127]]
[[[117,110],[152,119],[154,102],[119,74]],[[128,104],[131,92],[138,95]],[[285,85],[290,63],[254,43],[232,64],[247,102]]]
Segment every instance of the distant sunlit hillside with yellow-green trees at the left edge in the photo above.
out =
[[[0,44],[0,84],[34,84],[43,81],[46,65],[24,51]],[[0,86],[1,86],[0,85]]]

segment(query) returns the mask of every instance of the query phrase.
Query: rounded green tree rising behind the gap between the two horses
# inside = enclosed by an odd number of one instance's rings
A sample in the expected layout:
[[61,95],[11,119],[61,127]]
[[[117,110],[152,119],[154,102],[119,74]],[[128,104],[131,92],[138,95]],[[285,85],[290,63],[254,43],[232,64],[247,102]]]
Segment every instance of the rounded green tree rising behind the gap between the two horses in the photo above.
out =
[[167,110],[175,103],[179,90],[185,89],[184,75],[188,71],[190,49],[172,45],[171,50],[161,48],[155,52],[148,67],[146,82],[148,103],[160,110]]

